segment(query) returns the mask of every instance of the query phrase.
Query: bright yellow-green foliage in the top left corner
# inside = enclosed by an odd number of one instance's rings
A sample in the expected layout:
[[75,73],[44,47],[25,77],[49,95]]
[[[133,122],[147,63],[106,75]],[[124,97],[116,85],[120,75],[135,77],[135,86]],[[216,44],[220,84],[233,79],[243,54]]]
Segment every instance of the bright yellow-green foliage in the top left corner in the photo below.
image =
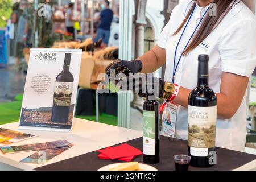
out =
[[0,1],[0,27],[6,26],[6,21],[11,16],[12,0],[1,0]]

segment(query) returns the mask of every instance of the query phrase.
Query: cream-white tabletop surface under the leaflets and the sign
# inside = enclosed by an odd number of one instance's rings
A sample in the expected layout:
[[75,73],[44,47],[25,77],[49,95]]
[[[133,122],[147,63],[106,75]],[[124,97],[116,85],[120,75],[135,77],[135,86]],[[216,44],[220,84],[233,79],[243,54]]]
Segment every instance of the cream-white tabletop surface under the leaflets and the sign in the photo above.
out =
[[[125,129],[117,126],[106,125],[102,123],[86,121],[84,119],[74,118],[72,133],[38,131],[38,130],[19,130],[24,133],[38,135],[38,137],[14,143],[13,146],[31,143],[51,142],[55,140],[67,140],[74,144],[67,151],[49,160],[46,164],[52,164],[61,160],[73,158],[88,152],[112,146],[114,144],[126,142],[142,136],[142,132]],[[18,122],[0,127],[18,130]],[[32,152],[22,152],[18,154],[2,154],[0,152],[0,171],[3,170],[33,170],[40,167],[40,164],[19,163],[20,160],[34,154]]]

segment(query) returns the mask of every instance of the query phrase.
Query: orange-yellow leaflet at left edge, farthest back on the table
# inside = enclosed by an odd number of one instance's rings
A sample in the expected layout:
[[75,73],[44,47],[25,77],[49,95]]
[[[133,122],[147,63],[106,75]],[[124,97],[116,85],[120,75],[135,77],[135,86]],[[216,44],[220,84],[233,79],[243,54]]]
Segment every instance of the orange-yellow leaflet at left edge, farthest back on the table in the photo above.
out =
[[20,142],[22,140],[34,138],[36,135],[31,135],[27,133],[22,133],[19,131],[4,129],[0,127],[0,146],[5,146],[7,144],[13,144]]

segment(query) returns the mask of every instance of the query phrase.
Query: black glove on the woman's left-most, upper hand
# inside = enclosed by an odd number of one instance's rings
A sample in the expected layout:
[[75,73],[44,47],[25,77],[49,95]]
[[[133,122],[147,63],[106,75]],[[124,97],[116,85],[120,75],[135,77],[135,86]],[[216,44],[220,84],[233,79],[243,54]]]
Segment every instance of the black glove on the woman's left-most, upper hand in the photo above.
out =
[[115,69],[118,67],[128,68],[131,73],[138,73],[142,70],[142,63],[140,60],[124,61],[124,60],[115,60],[113,63],[108,65],[106,68],[106,74],[110,76],[110,69]]

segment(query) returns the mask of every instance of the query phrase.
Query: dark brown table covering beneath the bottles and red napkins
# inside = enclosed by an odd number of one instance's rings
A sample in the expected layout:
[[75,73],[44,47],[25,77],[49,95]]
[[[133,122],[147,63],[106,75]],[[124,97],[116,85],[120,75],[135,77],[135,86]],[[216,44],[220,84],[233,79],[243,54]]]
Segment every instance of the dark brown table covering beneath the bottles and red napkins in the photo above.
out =
[[[142,149],[142,137],[126,142],[131,146]],[[209,168],[189,167],[191,171],[231,171],[231,170],[250,170],[256,167],[256,155],[245,154],[224,148],[216,148],[217,150],[217,165]],[[174,139],[169,137],[160,137],[160,163],[151,164],[160,171],[175,170],[174,160],[172,156],[176,154],[187,154],[187,141]],[[35,168],[35,170],[90,170],[95,171],[108,164],[117,163],[119,161],[99,160],[97,151],[89,152],[88,154],[80,155],[75,158],[63,160],[47,166]],[[138,156],[134,159],[139,163],[143,163],[143,157]],[[72,164],[69,165],[69,164]]]

